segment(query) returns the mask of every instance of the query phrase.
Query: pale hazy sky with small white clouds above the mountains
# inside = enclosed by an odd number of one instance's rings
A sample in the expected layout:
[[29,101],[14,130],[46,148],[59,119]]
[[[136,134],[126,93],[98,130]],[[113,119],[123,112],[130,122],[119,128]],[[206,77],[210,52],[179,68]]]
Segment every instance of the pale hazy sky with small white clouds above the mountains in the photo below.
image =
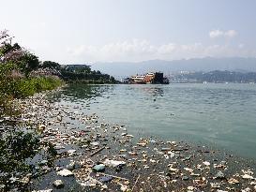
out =
[[0,30],[60,64],[256,57],[255,0],[0,0]]

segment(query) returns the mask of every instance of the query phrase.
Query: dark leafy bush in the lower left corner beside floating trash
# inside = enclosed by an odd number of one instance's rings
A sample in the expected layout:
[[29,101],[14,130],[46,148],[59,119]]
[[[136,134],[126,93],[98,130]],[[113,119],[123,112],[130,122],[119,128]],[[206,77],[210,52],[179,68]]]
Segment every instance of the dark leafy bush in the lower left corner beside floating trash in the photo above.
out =
[[31,160],[42,148],[47,148],[44,155],[51,164],[56,151],[52,144],[40,142],[35,132],[14,127],[0,137],[0,184],[4,185],[5,191],[13,186],[21,189],[35,176],[37,164]]

